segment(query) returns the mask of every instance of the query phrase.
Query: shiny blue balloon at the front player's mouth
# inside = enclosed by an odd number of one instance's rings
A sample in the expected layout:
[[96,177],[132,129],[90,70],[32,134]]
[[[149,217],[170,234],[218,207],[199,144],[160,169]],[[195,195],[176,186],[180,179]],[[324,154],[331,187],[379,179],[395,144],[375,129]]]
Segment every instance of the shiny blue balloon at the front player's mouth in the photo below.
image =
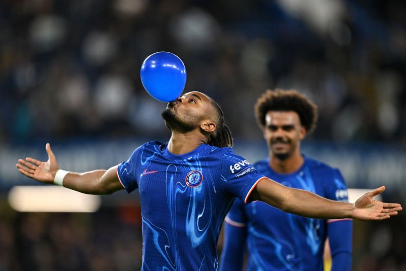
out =
[[148,56],[141,66],[141,82],[147,92],[159,101],[178,98],[186,84],[186,68],[173,53],[157,52]]

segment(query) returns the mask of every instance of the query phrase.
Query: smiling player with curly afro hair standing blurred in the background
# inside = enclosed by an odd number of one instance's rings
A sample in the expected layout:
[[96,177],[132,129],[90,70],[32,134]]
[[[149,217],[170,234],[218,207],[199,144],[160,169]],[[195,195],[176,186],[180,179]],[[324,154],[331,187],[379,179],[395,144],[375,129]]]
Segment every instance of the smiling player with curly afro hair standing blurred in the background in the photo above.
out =
[[[255,113],[269,157],[254,167],[269,179],[325,198],[348,201],[339,170],[300,153],[300,142],[315,128],[317,107],[296,90],[267,90]],[[304,204],[304,202],[303,202]],[[313,219],[256,201],[234,201],[225,218],[221,270],[241,270],[248,245],[247,270],[323,270],[328,236],[332,270],[350,270],[351,219]]]

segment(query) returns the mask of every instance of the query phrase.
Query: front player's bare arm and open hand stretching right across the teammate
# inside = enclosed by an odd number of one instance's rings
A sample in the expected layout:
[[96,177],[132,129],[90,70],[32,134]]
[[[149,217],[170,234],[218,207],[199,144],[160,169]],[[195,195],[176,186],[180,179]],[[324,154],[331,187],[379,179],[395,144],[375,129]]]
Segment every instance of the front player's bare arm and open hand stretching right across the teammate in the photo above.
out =
[[397,215],[397,212],[402,210],[400,204],[373,199],[383,191],[385,186],[365,193],[355,204],[350,204],[326,199],[306,190],[289,188],[270,179],[264,179],[253,189],[249,201],[261,200],[284,212],[312,218],[383,220]]

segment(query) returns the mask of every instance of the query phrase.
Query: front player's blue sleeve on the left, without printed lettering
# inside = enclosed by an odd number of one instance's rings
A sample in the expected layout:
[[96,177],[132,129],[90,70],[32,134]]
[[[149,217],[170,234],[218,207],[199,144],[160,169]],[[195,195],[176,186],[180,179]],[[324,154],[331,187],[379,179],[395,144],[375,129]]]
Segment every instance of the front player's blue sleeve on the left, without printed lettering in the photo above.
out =
[[117,176],[128,193],[138,188],[137,163],[141,147],[134,150],[128,160],[117,166]]

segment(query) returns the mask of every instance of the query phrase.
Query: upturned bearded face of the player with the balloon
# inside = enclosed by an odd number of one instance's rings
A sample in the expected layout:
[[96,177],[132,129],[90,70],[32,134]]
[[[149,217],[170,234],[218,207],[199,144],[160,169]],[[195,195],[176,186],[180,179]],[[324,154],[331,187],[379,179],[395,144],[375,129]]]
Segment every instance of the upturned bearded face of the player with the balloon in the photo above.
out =
[[192,91],[168,103],[161,116],[169,129],[187,132],[195,129],[202,120],[208,118],[212,107],[208,96]]

